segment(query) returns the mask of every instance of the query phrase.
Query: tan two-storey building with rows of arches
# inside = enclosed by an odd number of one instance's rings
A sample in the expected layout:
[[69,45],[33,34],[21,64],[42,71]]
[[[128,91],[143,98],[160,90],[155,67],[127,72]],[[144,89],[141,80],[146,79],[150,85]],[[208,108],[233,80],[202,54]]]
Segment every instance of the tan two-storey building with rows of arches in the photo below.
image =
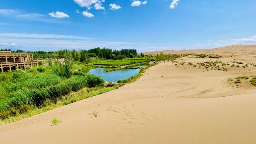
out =
[[27,69],[38,66],[37,60],[33,60],[32,54],[12,53],[10,51],[0,51],[0,71]]

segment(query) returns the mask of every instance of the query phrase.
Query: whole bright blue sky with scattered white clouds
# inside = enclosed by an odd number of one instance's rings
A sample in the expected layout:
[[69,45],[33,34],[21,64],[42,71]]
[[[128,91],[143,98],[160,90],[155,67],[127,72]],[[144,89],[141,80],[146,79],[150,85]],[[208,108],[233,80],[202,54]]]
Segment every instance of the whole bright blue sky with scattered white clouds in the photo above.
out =
[[256,0],[0,0],[0,48],[209,49],[256,44]]

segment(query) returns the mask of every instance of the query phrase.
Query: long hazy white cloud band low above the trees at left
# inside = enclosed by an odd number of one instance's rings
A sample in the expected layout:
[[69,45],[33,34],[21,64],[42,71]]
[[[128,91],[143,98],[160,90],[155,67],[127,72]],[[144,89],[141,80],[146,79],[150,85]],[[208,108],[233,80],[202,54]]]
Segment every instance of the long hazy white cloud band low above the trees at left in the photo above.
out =
[[72,35],[27,34],[27,33],[0,33],[0,49],[6,46],[18,46],[24,50],[58,50],[84,49],[94,47],[108,47],[121,49],[125,45],[140,44],[119,41],[104,41],[87,39]]

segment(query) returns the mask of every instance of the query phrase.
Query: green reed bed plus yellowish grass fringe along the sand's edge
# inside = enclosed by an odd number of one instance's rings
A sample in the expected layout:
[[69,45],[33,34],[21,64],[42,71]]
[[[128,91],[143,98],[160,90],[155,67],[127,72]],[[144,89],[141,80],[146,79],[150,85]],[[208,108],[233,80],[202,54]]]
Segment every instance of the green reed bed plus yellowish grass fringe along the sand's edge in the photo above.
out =
[[[4,72],[0,74],[0,90],[3,91],[0,96],[0,125],[117,89],[136,81],[145,69],[155,64],[157,63],[141,68],[137,75],[118,85],[108,84],[110,87],[105,88],[99,85],[103,82],[99,76],[87,75],[82,71],[73,72],[71,78],[61,77],[56,72],[55,64],[44,67],[45,72],[38,72],[35,68]],[[75,64],[74,67],[76,66],[87,67],[84,63]],[[9,92],[10,89],[14,91]]]

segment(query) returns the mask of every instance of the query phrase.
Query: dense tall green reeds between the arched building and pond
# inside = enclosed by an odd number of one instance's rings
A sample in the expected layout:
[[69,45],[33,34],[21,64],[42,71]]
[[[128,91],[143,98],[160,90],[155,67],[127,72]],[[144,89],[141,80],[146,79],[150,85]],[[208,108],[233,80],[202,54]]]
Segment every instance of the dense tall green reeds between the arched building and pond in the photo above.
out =
[[96,75],[73,75],[72,69],[68,69],[69,73],[65,75],[59,75],[66,72],[67,67],[57,68],[56,65],[26,71],[16,69],[0,74],[0,119],[21,115],[35,107],[44,107],[47,101],[56,103],[70,92],[99,86],[104,82]]

